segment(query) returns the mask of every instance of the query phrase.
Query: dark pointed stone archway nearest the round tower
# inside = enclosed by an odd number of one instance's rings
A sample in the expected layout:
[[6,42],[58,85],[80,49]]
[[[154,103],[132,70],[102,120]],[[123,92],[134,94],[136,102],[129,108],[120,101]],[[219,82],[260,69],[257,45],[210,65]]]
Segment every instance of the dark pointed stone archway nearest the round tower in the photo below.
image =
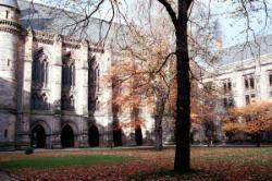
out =
[[49,136],[51,129],[45,121],[37,121],[30,128],[30,143],[37,148],[48,148],[50,145]]

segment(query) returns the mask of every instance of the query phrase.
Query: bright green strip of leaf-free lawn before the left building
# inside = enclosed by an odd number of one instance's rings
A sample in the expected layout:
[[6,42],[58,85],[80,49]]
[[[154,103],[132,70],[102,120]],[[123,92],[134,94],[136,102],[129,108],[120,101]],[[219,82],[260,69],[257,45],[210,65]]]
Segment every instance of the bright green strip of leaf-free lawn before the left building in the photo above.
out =
[[107,155],[73,155],[61,157],[29,157],[0,162],[0,169],[59,168],[69,166],[113,165],[134,160],[133,157]]

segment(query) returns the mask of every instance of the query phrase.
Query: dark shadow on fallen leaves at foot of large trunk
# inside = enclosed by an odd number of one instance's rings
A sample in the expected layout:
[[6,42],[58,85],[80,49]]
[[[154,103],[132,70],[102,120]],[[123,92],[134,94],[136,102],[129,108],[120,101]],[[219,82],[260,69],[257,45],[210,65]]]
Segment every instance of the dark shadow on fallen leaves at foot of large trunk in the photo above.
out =
[[208,176],[202,170],[190,170],[186,172],[177,172],[172,169],[160,168],[150,172],[141,172],[128,177],[128,180],[140,181],[140,180],[156,180],[156,179],[171,179],[176,178],[178,180],[190,180],[191,178],[198,178],[200,176]]

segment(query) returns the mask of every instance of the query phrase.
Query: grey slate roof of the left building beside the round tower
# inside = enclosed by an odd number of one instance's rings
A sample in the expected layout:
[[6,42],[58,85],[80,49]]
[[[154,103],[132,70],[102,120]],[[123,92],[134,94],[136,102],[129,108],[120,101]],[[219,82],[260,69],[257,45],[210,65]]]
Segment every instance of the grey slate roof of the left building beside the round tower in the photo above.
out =
[[[87,25],[84,23],[75,25],[74,20],[78,21],[84,19],[82,14],[38,3],[30,3],[25,0],[18,0],[18,7],[21,10],[21,24],[24,28],[86,38],[92,43],[98,43],[106,37],[110,26],[109,22],[95,17],[91,17]],[[113,38],[113,32],[116,32],[116,29],[124,31],[124,26],[113,24],[108,37]]]

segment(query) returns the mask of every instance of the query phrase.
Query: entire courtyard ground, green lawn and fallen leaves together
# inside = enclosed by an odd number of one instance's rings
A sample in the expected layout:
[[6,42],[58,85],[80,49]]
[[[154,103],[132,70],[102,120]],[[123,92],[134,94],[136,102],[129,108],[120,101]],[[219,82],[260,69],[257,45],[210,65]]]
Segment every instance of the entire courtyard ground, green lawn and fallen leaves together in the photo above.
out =
[[193,147],[191,168],[173,172],[174,148],[0,153],[13,180],[272,180],[272,147]]

